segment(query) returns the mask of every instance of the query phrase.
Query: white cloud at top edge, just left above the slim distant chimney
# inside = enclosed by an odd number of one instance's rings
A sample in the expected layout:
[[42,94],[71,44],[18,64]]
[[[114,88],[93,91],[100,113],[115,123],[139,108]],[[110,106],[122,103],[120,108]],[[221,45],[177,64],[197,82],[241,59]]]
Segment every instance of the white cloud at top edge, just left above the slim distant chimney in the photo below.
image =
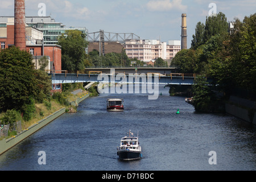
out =
[[168,11],[171,9],[179,9],[184,11],[187,9],[187,6],[181,4],[182,0],[160,0],[155,1],[151,0],[147,3],[147,9],[150,11]]

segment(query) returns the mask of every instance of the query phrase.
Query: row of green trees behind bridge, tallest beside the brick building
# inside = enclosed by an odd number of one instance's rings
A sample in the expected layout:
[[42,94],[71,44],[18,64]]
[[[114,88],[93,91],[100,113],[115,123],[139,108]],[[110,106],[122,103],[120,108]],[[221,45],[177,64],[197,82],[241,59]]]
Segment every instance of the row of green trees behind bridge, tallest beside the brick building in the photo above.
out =
[[[136,58],[129,59],[122,49],[121,53],[111,52],[101,55],[96,49],[88,54],[85,49],[88,42],[85,35],[79,30],[68,30],[66,35],[61,35],[59,45],[62,52],[62,69],[69,71],[83,71],[84,68],[106,67],[143,67],[146,63]],[[155,67],[167,67],[167,63],[158,58]]]

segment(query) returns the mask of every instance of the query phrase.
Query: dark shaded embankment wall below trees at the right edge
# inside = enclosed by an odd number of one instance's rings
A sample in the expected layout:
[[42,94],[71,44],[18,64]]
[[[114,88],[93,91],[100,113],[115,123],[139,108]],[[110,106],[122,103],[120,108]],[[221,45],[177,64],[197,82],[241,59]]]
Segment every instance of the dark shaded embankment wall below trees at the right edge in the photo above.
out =
[[232,114],[247,122],[256,125],[256,112],[250,113],[250,110],[255,110],[256,102],[249,101],[243,98],[231,96],[229,103],[225,105],[226,113]]

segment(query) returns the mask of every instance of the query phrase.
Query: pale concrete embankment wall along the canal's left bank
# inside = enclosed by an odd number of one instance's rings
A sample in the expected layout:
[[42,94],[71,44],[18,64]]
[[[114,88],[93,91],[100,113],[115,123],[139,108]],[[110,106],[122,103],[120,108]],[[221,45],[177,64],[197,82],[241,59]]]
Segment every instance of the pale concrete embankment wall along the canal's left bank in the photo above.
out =
[[[88,97],[89,97],[89,94],[85,94],[85,96],[77,98],[77,100],[74,101],[74,103],[76,104],[76,106],[78,106],[81,101],[84,101],[85,98],[88,98]],[[65,108],[60,109],[55,113],[49,115],[48,117],[42,119],[41,121],[35,123],[34,125],[28,127],[28,129],[23,130],[15,137],[0,140],[0,155],[6,152],[7,150],[9,150],[11,147],[18,144],[19,142],[21,142],[22,140],[26,139],[30,135],[34,134],[39,129],[42,129],[42,127],[46,126],[48,123],[52,122],[54,119],[56,119],[57,117],[59,117],[64,113],[65,113]]]

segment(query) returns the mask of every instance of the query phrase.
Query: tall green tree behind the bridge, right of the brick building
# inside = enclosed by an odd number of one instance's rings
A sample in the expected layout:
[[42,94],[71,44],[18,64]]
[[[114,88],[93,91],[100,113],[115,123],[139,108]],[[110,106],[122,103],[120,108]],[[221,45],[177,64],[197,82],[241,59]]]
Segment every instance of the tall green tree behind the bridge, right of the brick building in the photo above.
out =
[[67,30],[59,37],[59,45],[61,46],[61,67],[69,71],[82,71],[85,68],[84,60],[85,48],[88,42],[85,35],[79,30]]

